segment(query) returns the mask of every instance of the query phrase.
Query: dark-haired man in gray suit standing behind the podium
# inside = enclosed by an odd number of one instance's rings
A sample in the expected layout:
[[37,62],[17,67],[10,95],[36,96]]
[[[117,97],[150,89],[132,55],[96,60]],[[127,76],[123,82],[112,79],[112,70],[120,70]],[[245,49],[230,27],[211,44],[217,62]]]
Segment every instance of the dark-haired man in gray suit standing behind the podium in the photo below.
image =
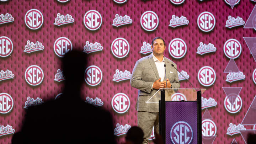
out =
[[[158,103],[146,103],[160,88],[180,88],[176,64],[164,57],[165,42],[161,37],[156,37],[151,43],[152,54],[139,59],[132,72],[130,84],[139,89],[136,110],[138,111],[138,126],[144,132],[143,144],[148,144],[153,126],[159,133],[159,106]],[[165,81],[165,68],[166,77]]]

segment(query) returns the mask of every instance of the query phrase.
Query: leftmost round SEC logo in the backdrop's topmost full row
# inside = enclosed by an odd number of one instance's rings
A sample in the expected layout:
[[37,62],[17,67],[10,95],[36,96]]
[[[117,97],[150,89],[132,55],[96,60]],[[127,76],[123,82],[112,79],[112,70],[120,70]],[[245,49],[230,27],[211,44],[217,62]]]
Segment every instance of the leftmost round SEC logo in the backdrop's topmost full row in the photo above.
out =
[[43,14],[37,9],[31,9],[27,11],[24,20],[28,28],[37,30],[43,25]]

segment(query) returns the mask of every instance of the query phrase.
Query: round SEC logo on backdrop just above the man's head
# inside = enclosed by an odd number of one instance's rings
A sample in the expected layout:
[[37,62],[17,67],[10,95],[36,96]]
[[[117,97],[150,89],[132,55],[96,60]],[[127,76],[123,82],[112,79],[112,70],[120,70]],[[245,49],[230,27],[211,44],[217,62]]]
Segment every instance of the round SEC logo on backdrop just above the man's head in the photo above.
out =
[[140,25],[146,31],[154,31],[158,24],[158,15],[154,11],[145,11],[140,17]]

